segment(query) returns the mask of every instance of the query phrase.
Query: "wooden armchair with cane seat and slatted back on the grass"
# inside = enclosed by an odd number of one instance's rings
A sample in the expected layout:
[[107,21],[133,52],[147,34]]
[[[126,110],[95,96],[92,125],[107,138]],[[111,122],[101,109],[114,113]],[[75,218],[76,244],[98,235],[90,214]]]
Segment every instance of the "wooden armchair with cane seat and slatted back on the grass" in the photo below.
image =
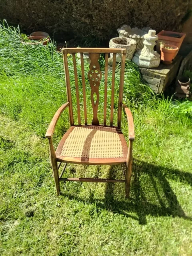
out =
[[[70,88],[70,78],[68,70],[68,54],[73,56],[74,76],[76,86],[76,102],[78,110],[78,125],[74,125],[72,96]],[[80,99],[78,89],[78,76],[76,68],[76,53],[80,53],[81,60],[81,75],[82,75],[82,91],[84,101],[84,125],[81,124],[80,117]],[[87,124],[86,110],[86,88],[84,75],[84,59],[83,53],[89,53],[90,71],[88,72],[88,80],[91,87],[91,103],[93,108],[92,125]],[[98,104],[99,104],[99,85],[102,77],[98,59],[100,53],[105,53],[105,73],[104,73],[104,121],[100,124],[98,120]],[[106,125],[107,112],[107,84],[108,84],[108,54],[113,53],[112,66],[112,87],[111,87],[111,110],[110,110],[110,126]],[[130,179],[132,173],[132,147],[134,141],[134,124],[130,110],[122,104],[123,86],[124,86],[124,69],[126,49],[113,48],[64,48],[62,49],[64,59],[64,70],[66,79],[67,99],[54,115],[48,130],[46,138],[49,140],[50,159],[56,185],[57,194],[60,194],[60,181],[80,181],[80,182],[125,182],[126,197],[129,196]],[[113,125],[114,115],[114,79],[116,68],[116,54],[122,55],[120,85],[118,96],[118,121],[117,126]],[[96,102],[94,102],[94,94],[96,94]],[[122,107],[125,110],[128,127],[129,127],[129,143],[127,146],[126,140],[121,131]],[[58,148],[55,152],[52,143],[52,135],[56,123],[61,113],[68,108],[70,117],[70,128],[62,137]],[[59,176],[58,169],[62,162],[65,162],[64,168]],[[93,165],[114,165],[122,164],[124,169],[124,180],[99,179],[99,178],[62,178],[67,163],[73,164],[93,164]]]

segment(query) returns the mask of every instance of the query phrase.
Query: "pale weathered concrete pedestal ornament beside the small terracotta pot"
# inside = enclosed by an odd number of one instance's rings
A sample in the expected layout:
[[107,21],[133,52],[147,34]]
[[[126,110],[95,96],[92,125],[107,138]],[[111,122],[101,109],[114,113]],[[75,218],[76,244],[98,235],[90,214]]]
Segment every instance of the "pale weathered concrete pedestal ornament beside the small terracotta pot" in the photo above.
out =
[[160,55],[154,51],[156,40],[158,40],[156,31],[149,30],[148,34],[144,35],[144,47],[139,52],[136,52],[132,62],[142,68],[158,67],[160,64]]

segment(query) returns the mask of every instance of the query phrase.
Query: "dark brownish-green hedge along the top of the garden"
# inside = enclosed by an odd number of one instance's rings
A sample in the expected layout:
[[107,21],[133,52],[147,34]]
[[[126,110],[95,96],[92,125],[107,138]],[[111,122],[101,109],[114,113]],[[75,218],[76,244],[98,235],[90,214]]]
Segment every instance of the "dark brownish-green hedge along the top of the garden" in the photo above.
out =
[[190,7],[190,1],[183,0],[4,0],[0,1],[0,18],[19,24],[28,33],[42,30],[63,41],[74,36],[86,41],[90,36],[109,39],[122,24],[180,30]]

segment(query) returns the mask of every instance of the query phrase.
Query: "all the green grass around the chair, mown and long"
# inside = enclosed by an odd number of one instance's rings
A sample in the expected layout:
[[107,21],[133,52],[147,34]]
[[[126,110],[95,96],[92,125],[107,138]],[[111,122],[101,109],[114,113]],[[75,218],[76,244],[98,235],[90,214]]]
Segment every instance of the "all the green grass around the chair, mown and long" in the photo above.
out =
[[[18,28],[0,28],[0,254],[192,255],[191,102],[154,96],[138,69],[126,64],[124,102],[132,110],[136,134],[130,199],[120,183],[68,182],[56,196],[44,136],[66,102],[62,56],[52,43],[25,42]],[[75,102],[73,73],[71,81]],[[86,85],[89,95],[88,81]],[[100,102],[103,88],[102,81]],[[91,117],[88,103],[89,122]],[[125,116],[122,121],[127,137]],[[58,122],[55,146],[68,127],[66,111]],[[118,166],[68,164],[64,175],[122,174]]]

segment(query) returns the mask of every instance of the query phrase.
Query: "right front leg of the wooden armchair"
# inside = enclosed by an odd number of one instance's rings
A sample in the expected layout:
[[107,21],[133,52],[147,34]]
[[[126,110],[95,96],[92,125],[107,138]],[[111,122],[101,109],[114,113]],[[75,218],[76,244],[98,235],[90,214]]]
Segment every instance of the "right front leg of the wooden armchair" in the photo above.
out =
[[133,140],[129,140],[128,154],[126,159],[126,173],[125,173],[125,195],[129,198],[130,192],[130,182],[132,174],[132,164],[133,164]]

